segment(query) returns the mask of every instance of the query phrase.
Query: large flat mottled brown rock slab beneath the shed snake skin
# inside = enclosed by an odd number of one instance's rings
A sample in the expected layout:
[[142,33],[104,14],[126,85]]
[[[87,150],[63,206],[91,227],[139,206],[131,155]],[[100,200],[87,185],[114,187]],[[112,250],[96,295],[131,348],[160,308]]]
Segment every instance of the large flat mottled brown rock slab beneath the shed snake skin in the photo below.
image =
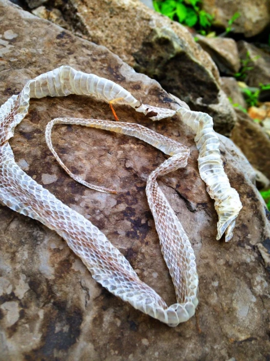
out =
[[[79,39],[48,21],[0,1],[1,102],[28,79],[69,64],[109,78],[142,101],[175,106],[153,80],[136,74],[103,46]],[[12,35],[12,36],[11,36]],[[268,337],[269,226],[247,160],[221,136],[221,151],[243,210],[231,243],[218,242],[217,215],[197,168],[192,132],[178,118],[153,123],[127,106],[121,120],[156,129],[191,149],[188,166],[160,178],[160,186],[194,247],[200,277],[197,317],[176,328],[136,311],[90,276],[60,236],[38,221],[0,208],[0,359],[21,360],[265,360]],[[162,259],[146,201],[145,180],[165,156],[134,138],[98,129],[58,126],[53,144],[74,173],[114,185],[115,195],[70,179],[45,145],[52,118],[113,119],[108,104],[90,97],[32,100],[10,144],[21,167],[71,208],[98,226],[142,280],[168,303],[174,289]]]

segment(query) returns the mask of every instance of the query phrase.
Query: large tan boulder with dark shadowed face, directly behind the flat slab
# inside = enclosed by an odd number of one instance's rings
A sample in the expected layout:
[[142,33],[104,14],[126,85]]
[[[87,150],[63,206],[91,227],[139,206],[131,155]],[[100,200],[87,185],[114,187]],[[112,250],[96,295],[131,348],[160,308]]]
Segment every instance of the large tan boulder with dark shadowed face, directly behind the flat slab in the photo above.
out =
[[229,134],[236,116],[218,69],[184,26],[138,0],[67,0],[61,8],[75,32],[158,80],[193,110],[207,111],[216,130]]

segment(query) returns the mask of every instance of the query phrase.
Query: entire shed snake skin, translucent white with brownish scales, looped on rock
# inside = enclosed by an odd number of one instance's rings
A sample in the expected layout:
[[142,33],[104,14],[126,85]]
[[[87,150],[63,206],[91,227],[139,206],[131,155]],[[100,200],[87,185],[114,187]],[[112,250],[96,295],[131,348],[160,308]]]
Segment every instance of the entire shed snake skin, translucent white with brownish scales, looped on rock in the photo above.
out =
[[76,124],[128,134],[170,156],[149,175],[146,185],[147,199],[154,216],[161,252],[177,297],[177,303],[167,306],[151,287],[139,279],[127,259],[97,227],[45,190],[15,163],[8,140],[14,135],[15,127],[26,116],[30,98],[69,94],[91,95],[107,102],[126,104],[152,120],[179,113],[182,121],[196,133],[200,175],[207,185],[207,191],[215,200],[215,208],[219,215],[217,239],[225,233],[225,240],[229,241],[242,204],[238,193],[230,187],[225,175],[212,118],[205,113],[182,107],[176,111],[141,104],[120,85],[93,74],[76,71],[70,66],[61,66],[29,81],[19,95],[13,95],[0,107],[0,201],[12,210],[37,219],[56,231],[82,259],[93,278],[112,294],[169,326],[177,326],[195,313],[198,304],[198,275],[195,255],[188,237],[158,187],[156,179],[159,175],[185,167],[189,149],[153,130],[131,123],[57,118],[49,122],[45,131],[49,148],[67,173],[80,183],[98,191],[115,192],[91,185],[67,169],[51,144],[50,134],[54,124]]

